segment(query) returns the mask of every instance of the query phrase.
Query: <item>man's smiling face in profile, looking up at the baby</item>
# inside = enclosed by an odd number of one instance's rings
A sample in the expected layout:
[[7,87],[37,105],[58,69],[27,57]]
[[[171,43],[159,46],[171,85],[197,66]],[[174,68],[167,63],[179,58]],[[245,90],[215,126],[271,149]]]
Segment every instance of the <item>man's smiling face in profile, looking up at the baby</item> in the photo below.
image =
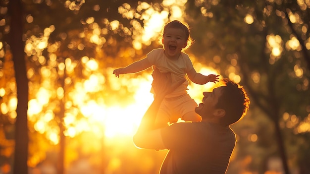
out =
[[212,92],[204,92],[204,98],[202,100],[203,103],[199,104],[199,106],[195,109],[195,112],[200,116],[204,117],[212,117],[215,112],[215,106],[217,104],[218,98],[222,94],[223,86],[214,88]]

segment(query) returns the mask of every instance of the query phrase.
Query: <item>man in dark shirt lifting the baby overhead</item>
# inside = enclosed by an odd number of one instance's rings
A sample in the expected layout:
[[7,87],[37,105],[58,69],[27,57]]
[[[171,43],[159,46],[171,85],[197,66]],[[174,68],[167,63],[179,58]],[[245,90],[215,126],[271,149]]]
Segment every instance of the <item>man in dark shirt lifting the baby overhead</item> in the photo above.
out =
[[[240,120],[250,100],[238,84],[223,79],[224,86],[204,92],[203,103],[195,109],[201,122],[181,122],[156,128],[155,120],[165,95],[183,81],[171,84],[171,74],[153,72],[157,85],[155,99],[141,120],[133,141],[146,149],[169,149],[159,174],[225,174],[236,137],[229,125]],[[156,85],[154,85],[156,86]]]

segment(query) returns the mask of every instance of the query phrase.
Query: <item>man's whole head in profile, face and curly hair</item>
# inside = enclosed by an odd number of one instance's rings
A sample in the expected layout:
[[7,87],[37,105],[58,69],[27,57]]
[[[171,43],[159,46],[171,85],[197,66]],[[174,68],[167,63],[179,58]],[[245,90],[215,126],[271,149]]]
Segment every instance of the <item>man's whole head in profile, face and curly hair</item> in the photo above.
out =
[[242,86],[229,79],[223,79],[223,86],[212,92],[204,92],[203,103],[196,108],[202,120],[230,125],[246,115],[250,99]]

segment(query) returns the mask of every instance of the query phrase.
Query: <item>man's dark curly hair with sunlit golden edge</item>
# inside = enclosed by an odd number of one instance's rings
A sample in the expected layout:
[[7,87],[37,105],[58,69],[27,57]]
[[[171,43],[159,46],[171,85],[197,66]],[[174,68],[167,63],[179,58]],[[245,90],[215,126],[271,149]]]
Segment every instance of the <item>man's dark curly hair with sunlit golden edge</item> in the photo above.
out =
[[250,99],[243,86],[227,78],[222,82],[224,86],[215,108],[225,110],[225,116],[221,117],[220,123],[226,126],[239,121],[246,115]]

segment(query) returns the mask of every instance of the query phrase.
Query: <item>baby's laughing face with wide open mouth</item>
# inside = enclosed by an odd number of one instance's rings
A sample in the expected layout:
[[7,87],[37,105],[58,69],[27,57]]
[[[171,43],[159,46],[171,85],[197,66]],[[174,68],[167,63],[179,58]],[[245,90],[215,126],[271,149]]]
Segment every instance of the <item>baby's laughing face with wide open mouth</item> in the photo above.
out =
[[166,28],[161,42],[166,57],[170,59],[178,59],[180,52],[187,45],[187,38],[182,29]]

